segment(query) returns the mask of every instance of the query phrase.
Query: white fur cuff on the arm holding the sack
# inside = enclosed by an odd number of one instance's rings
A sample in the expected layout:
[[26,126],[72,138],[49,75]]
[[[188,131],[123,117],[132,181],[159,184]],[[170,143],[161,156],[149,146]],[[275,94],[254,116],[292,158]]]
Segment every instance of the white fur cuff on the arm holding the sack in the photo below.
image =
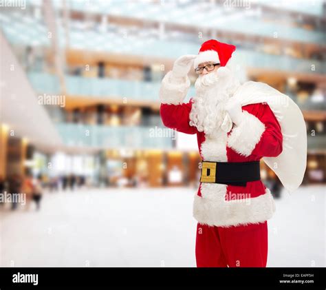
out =
[[243,119],[239,126],[233,128],[228,137],[228,147],[243,156],[249,156],[257,143],[261,139],[261,135],[265,131],[265,125],[254,115],[243,111]]

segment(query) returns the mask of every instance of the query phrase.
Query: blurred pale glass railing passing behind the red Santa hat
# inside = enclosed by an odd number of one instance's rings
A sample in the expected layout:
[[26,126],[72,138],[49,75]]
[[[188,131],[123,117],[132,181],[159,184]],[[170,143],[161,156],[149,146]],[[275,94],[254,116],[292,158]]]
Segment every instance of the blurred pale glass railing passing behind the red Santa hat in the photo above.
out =
[[[33,19],[23,12],[16,14],[0,13],[1,29],[12,45],[35,47],[50,46],[47,28],[42,19]],[[15,16],[13,16],[15,15]],[[237,24],[239,25],[239,23]],[[248,26],[250,27],[250,26]],[[59,29],[59,35],[61,34]],[[276,30],[275,30],[276,31]],[[62,31],[64,33],[64,30]],[[312,32],[309,32],[312,33]],[[65,37],[59,37],[61,47],[65,47]],[[91,41],[89,41],[91,39]],[[306,37],[302,37],[306,39]],[[321,43],[322,41],[318,41]],[[132,45],[131,45],[132,43]],[[158,39],[153,35],[128,35],[124,37],[119,31],[98,32],[96,30],[69,30],[69,48],[133,56],[176,59],[182,54],[197,54],[200,43],[198,39],[186,40],[180,35],[180,41]],[[260,47],[263,45],[260,44]],[[273,55],[238,46],[234,56],[243,68],[266,68],[307,74],[325,74],[326,66],[322,61],[313,59],[295,59],[286,55]],[[26,57],[28,59],[28,57]],[[25,67],[23,65],[23,67]],[[314,70],[312,70],[312,67]]]

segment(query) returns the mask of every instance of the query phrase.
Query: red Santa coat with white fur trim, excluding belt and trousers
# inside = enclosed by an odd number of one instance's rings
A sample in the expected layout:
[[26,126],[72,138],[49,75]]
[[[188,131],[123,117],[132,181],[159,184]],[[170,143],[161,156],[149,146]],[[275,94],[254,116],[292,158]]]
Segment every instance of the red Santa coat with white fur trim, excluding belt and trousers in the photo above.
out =
[[[281,126],[267,103],[244,105],[243,121],[239,127],[233,125],[228,133],[218,128],[217,134],[210,138],[189,125],[192,101],[180,102],[183,90],[175,91],[179,101],[176,100],[174,104],[171,95],[164,99],[169,89],[171,84],[164,87],[163,81],[164,93],[161,92],[160,107],[162,121],[166,127],[178,132],[197,134],[198,149],[203,160],[248,162],[281,154]],[[193,216],[199,223],[220,227],[264,222],[272,217],[274,211],[270,190],[261,180],[248,182],[246,187],[200,183],[193,204]]]

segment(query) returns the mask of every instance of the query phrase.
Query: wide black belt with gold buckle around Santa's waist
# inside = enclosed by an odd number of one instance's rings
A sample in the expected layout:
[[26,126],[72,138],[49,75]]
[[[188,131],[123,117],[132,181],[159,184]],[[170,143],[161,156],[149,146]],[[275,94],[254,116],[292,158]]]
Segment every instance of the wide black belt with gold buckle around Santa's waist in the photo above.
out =
[[201,183],[221,183],[246,186],[248,181],[261,179],[259,161],[210,162],[202,161]]

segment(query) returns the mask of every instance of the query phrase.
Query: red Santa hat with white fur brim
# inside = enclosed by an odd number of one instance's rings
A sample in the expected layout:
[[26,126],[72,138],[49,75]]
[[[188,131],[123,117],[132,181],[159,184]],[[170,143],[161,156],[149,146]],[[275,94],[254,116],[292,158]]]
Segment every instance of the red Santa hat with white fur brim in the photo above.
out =
[[225,66],[235,49],[235,45],[219,42],[215,39],[205,41],[199,50],[193,67],[197,68],[199,63],[205,63],[206,61],[213,61]]

